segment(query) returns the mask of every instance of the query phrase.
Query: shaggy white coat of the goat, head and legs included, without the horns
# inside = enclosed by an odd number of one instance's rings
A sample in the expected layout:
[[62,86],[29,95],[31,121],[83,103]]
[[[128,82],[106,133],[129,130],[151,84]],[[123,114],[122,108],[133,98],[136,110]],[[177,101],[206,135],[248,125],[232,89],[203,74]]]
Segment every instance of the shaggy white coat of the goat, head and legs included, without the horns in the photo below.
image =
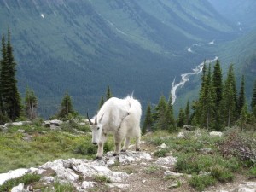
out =
[[[139,150],[141,116],[141,104],[132,96],[127,96],[124,99],[116,97],[108,99],[96,117],[90,120],[92,143],[98,145],[96,158],[102,158],[103,146],[108,134],[113,134],[115,140],[115,151],[113,155],[120,153],[121,143],[124,139],[125,144],[122,151],[127,150],[131,137],[136,137],[136,150]],[[97,122],[95,123],[95,121]]]

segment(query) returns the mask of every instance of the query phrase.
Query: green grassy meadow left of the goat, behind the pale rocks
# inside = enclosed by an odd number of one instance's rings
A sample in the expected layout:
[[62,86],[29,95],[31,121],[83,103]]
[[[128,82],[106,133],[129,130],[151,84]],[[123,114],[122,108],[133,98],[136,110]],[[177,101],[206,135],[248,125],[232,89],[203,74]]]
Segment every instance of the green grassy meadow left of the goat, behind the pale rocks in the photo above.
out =
[[[88,142],[90,153],[75,153],[75,148],[91,140],[91,136],[73,136],[65,132],[35,132],[32,140],[23,140],[21,133],[0,133],[0,172],[20,167],[40,166],[49,160],[68,158],[93,158],[96,146]],[[90,151],[91,150],[91,151]],[[94,153],[95,152],[95,153]]]

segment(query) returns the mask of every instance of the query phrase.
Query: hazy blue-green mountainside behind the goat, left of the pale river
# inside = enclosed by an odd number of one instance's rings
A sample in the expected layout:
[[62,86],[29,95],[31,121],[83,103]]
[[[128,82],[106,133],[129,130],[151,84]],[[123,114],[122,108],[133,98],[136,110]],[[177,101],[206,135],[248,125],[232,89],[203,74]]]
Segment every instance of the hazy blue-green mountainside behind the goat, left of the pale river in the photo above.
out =
[[0,32],[8,28],[20,91],[35,90],[44,116],[66,90],[79,113],[94,111],[108,85],[115,96],[134,91],[155,103],[175,76],[213,56],[191,54],[190,45],[233,32],[210,3],[185,0],[3,0]]

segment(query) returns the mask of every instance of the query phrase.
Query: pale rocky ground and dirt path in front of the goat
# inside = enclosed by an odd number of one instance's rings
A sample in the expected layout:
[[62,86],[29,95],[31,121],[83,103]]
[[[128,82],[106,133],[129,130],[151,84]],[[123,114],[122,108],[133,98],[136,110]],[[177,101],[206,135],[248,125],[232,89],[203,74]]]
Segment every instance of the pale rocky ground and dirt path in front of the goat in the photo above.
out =
[[[55,160],[38,168],[0,174],[0,185],[10,177],[37,172],[43,176],[41,186],[50,186],[58,180],[60,183],[72,183],[75,191],[195,191],[187,182],[189,175],[173,172],[176,158],[172,154],[160,158],[152,155],[155,150],[165,147],[164,143],[158,148],[143,143],[141,152],[135,152],[131,146],[131,150],[118,157],[113,157],[113,152],[108,152],[102,160]],[[96,177],[105,180],[99,181]],[[41,190],[36,190],[33,184],[24,186],[20,183],[12,191]],[[237,175],[234,182],[218,183],[206,191],[256,192],[256,180],[248,181],[246,177]]]

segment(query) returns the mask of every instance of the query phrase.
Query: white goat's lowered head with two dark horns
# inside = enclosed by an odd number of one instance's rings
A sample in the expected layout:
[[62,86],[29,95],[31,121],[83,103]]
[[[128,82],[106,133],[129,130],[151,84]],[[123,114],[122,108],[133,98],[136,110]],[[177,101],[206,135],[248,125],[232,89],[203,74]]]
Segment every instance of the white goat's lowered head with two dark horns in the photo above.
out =
[[95,114],[95,119],[90,119],[87,113],[87,119],[90,123],[90,130],[92,132],[91,142],[93,144],[98,144],[102,137],[102,124],[97,122],[97,113]]

